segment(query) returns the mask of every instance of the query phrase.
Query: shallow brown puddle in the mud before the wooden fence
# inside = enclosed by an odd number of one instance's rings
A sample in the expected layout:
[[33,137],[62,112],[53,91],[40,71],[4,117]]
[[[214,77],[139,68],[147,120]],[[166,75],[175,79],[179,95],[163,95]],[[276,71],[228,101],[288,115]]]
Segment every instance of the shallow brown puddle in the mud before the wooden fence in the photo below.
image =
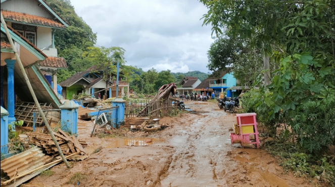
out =
[[[149,142],[148,140],[152,140]],[[161,138],[108,138],[106,148],[117,148],[123,146],[148,146],[153,143],[163,142]]]

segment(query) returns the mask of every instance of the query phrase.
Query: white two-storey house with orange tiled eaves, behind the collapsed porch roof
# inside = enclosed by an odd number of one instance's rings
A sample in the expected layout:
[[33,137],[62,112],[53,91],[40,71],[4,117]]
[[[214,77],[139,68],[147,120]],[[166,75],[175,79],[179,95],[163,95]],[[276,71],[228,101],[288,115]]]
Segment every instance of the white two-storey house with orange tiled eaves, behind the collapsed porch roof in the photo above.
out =
[[64,58],[57,56],[55,31],[69,24],[43,0],[1,1],[6,24],[36,46],[46,58],[36,63],[57,94],[57,69],[67,68]]

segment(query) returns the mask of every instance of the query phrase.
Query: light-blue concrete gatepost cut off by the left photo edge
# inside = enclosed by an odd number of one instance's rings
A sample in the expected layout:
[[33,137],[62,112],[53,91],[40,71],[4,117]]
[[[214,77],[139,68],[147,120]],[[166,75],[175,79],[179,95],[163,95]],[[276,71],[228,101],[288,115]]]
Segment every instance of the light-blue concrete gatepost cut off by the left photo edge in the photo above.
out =
[[8,112],[1,107],[1,154],[8,154],[8,115]]

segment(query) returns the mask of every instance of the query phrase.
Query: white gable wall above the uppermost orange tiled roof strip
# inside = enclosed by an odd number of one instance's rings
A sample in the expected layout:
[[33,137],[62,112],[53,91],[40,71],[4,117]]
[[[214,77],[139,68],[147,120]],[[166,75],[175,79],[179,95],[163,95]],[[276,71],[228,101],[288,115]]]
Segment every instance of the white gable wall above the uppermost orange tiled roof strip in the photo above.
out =
[[38,6],[38,4],[36,0],[11,0],[2,3],[1,9],[44,18],[54,18],[43,6]]

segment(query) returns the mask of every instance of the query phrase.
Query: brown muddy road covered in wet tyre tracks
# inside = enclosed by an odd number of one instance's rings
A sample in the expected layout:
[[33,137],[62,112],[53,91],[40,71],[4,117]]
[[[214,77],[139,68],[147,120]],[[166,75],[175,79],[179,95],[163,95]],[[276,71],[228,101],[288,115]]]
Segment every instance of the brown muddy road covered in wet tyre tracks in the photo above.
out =
[[56,165],[52,176],[37,176],[27,186],[74,186],[77,173],[79,186],[313,186],[285,173],[265,150],[231,145],[233,114],[209,102],[185,105],[196,112],[163,118],[170,127],[156,133],[90,138],[92,123],[80,121],[78,138],[101,150],[71,161],[71,169]]

